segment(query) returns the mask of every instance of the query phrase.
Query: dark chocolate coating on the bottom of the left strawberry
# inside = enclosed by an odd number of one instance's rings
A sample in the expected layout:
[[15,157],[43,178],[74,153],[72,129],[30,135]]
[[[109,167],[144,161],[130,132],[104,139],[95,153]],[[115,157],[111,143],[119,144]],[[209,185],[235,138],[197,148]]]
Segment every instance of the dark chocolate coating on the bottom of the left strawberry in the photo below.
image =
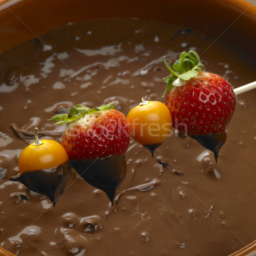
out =
[[90,185],[104,191],[113,204],[116,189],[122,184],[127,172],[125,155],[71,160],[71,165]]

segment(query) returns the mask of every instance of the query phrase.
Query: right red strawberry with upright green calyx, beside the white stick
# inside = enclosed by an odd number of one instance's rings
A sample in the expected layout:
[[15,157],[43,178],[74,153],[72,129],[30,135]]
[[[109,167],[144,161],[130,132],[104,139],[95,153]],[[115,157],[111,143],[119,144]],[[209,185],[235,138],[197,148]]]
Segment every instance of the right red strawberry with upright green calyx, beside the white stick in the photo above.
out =
[[182,52],[172,66],[174,70],[163,60],[172,73],[164,81],[165,104],[171,112],[173,127],[200,143],[220,134],[224,134],[225,142],[225,128],[236,108],[231,84],[219,75],[204,72],[195,51]]

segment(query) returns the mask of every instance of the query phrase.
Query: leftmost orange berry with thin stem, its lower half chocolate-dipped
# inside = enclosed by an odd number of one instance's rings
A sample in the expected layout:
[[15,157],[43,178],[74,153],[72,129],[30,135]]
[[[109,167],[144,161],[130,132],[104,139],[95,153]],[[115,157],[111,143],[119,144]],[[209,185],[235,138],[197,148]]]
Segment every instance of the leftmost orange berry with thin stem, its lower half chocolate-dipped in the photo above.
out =
[[38,140],[38,128],[35,128],[35,143],[21,152],[18,167],[19,174],[9,180],[46,195],[55,206],[70,174],[69,159],[61,144],[55,140]]

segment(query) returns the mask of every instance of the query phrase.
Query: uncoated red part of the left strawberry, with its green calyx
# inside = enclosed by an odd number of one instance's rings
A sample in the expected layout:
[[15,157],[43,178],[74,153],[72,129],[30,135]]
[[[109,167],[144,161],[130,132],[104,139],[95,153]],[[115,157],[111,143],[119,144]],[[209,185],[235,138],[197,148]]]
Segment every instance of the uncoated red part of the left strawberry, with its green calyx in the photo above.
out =
[[76,105],[69,114],[53,116],[49,121],[68,123],[61,145],[71,160],[124,155],[130,142],[129,122],[113,103],[93,109]]

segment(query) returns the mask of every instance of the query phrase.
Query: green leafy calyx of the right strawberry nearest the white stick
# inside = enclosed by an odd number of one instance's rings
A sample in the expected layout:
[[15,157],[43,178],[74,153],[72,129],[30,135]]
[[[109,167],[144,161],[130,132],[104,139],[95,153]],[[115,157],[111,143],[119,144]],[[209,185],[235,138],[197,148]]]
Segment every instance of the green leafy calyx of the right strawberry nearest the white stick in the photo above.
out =
[[180,53],[180,58],[175,61],[172,67],[164,57],[163,62],[171,72],[170,76],[163,78],[163,81],[167,83],[163,96],[169,92],[172,86],[182,86],[186,84],[186,81],[197,76],[198,72],[204,71],[204,65],[200,62],[198,53],[193,50]]

